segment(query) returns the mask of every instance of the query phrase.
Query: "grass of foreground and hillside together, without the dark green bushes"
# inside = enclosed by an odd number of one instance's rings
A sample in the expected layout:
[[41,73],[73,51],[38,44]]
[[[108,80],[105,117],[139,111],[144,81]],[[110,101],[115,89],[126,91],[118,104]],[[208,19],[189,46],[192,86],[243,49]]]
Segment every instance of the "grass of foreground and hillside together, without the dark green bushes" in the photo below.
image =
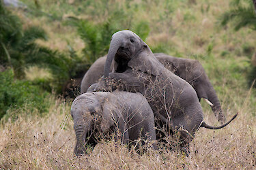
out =
[[[29,7],[33,1],[24,0]],[[247,75],[256,50],[256,32],[250,28],[233,30],[233,23],[221,27],[221,15],[231,1],[50,1],[40,0],[44,14],[15,10],[23,27],[37,25],[48,33],[39,44],[64,54],[72,44],[82,54],[85,44],[76,29],[67,24],[68,16],[85,18],[95,24],[106,18],[121,19],[120,29],[132,29],[145,21],[150,32],[145,42],[154,52],[194,58],[205,68],[217,92],[227,120],[238,117],[221,130],[199,129],[186,157],[168,150],[139,155],[119,143],[101,143],[89,156],[73,154],[75,134],[70,116],[71,101],[54,94],[47,97],[48,112],[37,109],[10,109],[15,121],[0,124],[0,169],[255,169],[256,168],[256,90]],[[104,5],[107,4],[107,5]],[[118,13],[119,12],[119,13]],[[46,15],[50,14],[50,16]],[[122,17],[124,18],[122,20]],[[46,69],[30,68],[27,80],[38,75],[51,77]],[[38,73],[38,75],[36,75]],[[205,122],[218,125],[210,107],[201,101]]]

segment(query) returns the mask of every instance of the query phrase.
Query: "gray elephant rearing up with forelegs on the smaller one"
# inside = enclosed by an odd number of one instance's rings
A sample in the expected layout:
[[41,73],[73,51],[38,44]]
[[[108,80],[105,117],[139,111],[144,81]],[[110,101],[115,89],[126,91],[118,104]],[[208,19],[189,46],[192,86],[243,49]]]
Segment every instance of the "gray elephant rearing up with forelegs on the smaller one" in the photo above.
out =
[[[113,71],[110,72],[113,61]],[[115,89],[141,92],[154,112],[157,129],[167,127],[165,134],[158,131],[157,139],[178,131],[180,148],[185,150],[200,127],[221,129],[237,116],[218,127],[206,124],[194,88],[166,69],[149,46],[128,30],[113,34],[104,65],[104,78],[94,90]]]

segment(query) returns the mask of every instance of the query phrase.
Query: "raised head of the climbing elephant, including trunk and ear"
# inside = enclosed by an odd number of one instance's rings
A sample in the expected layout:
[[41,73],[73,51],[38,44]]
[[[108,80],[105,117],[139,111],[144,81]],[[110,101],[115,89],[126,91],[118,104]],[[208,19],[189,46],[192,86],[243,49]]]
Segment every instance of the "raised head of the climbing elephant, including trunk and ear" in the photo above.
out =
[[130,67],[150,75],[157,75],[158,68],[163,67],[147,44],[137,34],[128,30],[113,34],[104,65],[104,77],[109,76],[113,59],[115,59],[113,69],[116,73],[122,73]]

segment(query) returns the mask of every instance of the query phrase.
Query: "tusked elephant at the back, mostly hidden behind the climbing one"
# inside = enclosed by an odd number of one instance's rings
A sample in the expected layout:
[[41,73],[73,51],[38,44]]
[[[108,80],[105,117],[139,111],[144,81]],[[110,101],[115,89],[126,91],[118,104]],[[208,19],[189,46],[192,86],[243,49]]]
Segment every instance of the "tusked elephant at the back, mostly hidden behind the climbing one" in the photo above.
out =
[[[208,76],[203,69],[203,66],[197,60],[177,58],[169,56],[163,53],[154,54],[158,61],[178,75],[180,78],[186,80],[197,92],[197,97],[208,99],[213,105],[210,105],[214,115],[221,124],[226,122],[226,118],[223,115],[221,109],[221,103],[218,100],[216,92],[208,79]],[[98,60],[91,65],[87,73],[85,73],[83,80],[81,82],[81,93],[87,91],[91,84],[96,83],[103,75],[104,64],[106,62],[106,56],[98,58]],[[111,64],[111,70],[113,69],[113,63]]]

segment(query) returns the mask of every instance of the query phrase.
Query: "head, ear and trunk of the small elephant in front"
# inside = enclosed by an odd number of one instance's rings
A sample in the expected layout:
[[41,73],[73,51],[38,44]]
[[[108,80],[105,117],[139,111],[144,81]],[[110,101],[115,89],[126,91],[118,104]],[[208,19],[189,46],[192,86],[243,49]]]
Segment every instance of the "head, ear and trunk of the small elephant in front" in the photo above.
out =
[[87,92],[74,99],[71,116],[76,133],[76,156],[86,153],[87,146],[94,148],[100,140],[100,135],[111,130],[117,122],[117,115],[111,112],[117,108],[113,103],[109,103],[110,99],[109,92]]

